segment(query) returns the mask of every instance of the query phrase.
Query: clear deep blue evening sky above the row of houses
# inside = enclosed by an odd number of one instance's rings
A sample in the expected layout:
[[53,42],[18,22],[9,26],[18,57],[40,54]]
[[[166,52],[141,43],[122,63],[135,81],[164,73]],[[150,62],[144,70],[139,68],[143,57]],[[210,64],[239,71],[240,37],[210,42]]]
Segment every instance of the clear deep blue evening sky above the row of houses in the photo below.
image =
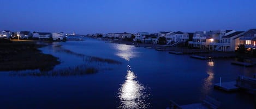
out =
[[0,30],[79,34],[256,28],[255,0],[1,0]]

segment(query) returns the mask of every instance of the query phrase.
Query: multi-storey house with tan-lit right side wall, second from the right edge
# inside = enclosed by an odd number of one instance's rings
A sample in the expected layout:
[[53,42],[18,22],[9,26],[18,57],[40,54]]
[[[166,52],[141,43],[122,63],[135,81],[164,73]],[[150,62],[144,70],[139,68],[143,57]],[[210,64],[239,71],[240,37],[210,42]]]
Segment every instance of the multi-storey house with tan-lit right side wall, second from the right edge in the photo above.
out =
[[234,33],[223,36],[221,39],[221,51],[235,52],[240,44],[240,37],[244,33],[244,31],[235,31]]

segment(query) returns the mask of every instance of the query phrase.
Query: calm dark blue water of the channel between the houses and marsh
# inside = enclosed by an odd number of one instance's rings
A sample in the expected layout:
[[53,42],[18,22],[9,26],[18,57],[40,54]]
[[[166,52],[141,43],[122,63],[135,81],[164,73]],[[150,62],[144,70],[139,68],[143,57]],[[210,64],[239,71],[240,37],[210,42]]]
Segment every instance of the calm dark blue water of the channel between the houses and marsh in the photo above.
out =
[[[2,72],[0,108],[166,108],[170,99],[186,105],[201,102],[206,95],[221,101],[222,108],[254,108],[250,94],[213,89],[219,77],[233,81],[239,74],[255,72],[255,68],[231,65],[232,60],[197,60],[94,39],[53,42],[40,49],[59,57],[62,63],[53,70],[84,65],[99,72],[65,76],[9,75],[34,70]],[[88,62],[75,53],[121,64]]]

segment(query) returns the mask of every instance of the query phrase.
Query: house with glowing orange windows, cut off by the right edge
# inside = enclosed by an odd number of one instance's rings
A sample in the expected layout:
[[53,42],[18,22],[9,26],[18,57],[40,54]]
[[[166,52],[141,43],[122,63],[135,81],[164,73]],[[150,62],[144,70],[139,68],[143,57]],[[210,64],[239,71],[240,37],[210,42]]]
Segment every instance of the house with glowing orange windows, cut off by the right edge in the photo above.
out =
[[256,48],[256,29],[250,29],[240,37],[240,44],[244,44],[248,49]]

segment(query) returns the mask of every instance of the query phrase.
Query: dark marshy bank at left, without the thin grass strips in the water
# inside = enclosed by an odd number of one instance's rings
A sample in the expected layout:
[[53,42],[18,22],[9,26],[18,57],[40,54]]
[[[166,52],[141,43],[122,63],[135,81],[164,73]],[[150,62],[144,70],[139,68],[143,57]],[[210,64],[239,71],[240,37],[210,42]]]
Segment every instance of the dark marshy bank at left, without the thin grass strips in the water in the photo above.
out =
[[0,71],[40,69],[51,70],[60,62],[58,58],[43,54],[42,44],[33,41],[8,41],[0,43]]

